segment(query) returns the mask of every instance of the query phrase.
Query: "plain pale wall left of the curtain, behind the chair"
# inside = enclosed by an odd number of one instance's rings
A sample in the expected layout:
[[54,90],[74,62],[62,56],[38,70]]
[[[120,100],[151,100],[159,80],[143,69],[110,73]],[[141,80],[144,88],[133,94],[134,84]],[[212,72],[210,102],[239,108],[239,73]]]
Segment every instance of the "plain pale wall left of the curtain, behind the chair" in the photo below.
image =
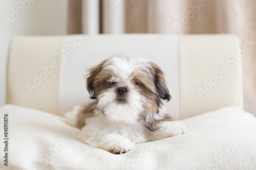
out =
[[19,35],[67,34],[68,0],[0,0],[0,106],[6,103],[6,64]]

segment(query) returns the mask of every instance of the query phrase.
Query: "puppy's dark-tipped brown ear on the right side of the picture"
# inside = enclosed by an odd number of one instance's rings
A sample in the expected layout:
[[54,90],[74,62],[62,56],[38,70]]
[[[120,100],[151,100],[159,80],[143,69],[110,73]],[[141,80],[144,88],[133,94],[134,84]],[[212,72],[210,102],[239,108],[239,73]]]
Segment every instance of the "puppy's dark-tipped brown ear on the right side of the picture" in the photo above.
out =
[[155,70],[155,85],[157,88],[158,95],[161,99],[169,100],[172,99],[172,96],[170,96],[170,92],[166,86],[165,78],[162,69],[155,63],[152,63],[152,66]]

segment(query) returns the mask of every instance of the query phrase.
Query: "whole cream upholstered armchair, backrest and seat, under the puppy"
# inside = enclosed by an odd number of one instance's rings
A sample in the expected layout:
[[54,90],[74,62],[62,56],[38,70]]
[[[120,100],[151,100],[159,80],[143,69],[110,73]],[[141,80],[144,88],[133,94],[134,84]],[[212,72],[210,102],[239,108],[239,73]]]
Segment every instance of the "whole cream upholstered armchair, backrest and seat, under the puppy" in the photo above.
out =
[[[241,62],[232,35],[17,37],[10,46],[8,166],[12,169],[253,169],[256,119],[243,111]],[[80,142],[63,114],[90,101],[86,69],[112,54],[141,55],[165,72],[184,119],[181,136],[113,155]],[[1,151],[3,152],[3,151]],[[3,153],[5,154],[5,153]],[[6,166],[2,163],[1,168]]]

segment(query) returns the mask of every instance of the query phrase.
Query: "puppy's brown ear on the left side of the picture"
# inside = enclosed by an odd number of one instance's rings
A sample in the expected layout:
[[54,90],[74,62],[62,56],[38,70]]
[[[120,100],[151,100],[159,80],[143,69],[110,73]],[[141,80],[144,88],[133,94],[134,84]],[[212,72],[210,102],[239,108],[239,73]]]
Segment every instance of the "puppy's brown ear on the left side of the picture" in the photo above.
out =
[[92,67],[89,69],[89,74],[87,76],[87,90],[90,94],[91,99],[96,99],[97,96],[95,95],[95,81],[96,77],[99,74],[99,72],[102,70],[102,66],[105,63],[105,61],[101,62],[100,64]]

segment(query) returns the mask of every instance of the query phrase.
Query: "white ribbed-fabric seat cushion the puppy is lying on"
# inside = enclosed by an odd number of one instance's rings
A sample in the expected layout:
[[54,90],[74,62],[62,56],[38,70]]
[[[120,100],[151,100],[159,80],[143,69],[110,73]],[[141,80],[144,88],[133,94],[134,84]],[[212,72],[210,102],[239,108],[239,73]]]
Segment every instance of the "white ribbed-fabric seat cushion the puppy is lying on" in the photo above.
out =
[[[121,155],[80,142],[76,139],[80,130],[67,125],[61,116],[14,105],[5,105],[0,113],[2,125],[4,113],[9,114],[8,169],[256,167],[256,118],[235,107],[184,119],[186,134],[136,144]],[[2,135],[3,130],[3,139]],[[2,162],[0,169],[5,168]]]

